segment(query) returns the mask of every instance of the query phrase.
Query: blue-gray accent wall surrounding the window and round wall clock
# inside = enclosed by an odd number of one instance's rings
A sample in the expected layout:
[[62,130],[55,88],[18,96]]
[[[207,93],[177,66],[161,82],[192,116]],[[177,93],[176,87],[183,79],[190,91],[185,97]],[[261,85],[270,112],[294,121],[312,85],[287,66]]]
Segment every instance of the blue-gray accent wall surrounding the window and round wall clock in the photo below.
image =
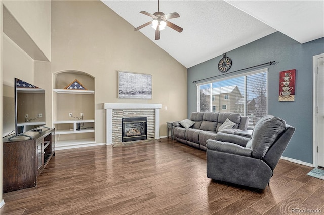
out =
[[[215,41],[217,42],[217,41]],[[313,56],[324,53],[324,37],[304,44],[275,32],[259,40],[226,52],[232,59],[232,67],[227,72],[244,69],[269,61],[276,65],[236,72],[246,73],[268,68],[268,114],[281,117],[296,128],[290,143],[282,156],[313,163],[312,158],[312,105],[313,105]],[[220,75],[218,62],[223,56],[188,68],[188,117],[197,111],[196,84],[192,81]],[[296,69],[295,101],[279,102],[279,72]],[[223,76],[219,77],[223,78]],[[207,80],[208,81],[208,80]]]

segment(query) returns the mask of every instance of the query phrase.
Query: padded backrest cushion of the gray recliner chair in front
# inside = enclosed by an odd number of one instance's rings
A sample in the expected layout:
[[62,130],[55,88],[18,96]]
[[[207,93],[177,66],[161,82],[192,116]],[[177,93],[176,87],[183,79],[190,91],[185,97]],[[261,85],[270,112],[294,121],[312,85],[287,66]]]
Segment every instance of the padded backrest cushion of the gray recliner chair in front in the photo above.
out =
[[262,159],[285,129],[285,120],[272,115],[262,117],[253,129],[251,144],[252,156]]

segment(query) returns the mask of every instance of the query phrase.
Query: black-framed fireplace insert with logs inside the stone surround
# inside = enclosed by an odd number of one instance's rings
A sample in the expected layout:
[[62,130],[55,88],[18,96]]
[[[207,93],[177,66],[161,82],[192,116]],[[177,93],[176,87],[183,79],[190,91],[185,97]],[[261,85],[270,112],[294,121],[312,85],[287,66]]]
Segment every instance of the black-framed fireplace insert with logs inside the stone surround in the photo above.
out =
[[147,117],[121,118],[121,142],[146,139]]

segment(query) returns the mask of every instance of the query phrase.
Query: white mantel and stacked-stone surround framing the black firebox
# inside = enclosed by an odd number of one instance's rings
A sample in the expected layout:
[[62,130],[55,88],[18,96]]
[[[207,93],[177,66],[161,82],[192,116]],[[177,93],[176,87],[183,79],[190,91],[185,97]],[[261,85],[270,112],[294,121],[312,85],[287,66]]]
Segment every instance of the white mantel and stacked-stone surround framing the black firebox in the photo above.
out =
[[[121,118],[123,117],[123,114],[120,113],[124,113],[124,112],[127,113],[128,115],[129,114],[141,115],[141,112],[143,111],[150,112],[149,110],[154,110],[153,111],[154,113],[152,113],[154,115],[152,116],[154,120],[148,119],[147,126],[151,127],[152,129],[154,128],[154,133],[151,135],[152,137],[154,136],[154,139],[160,138],[159,125],[160,125],[160,109],[162,108],[162,104],[104,103],[103,108],[106,109],[106,145],[111,145],[112,143],[119,141],[118,137],[116,137],[115,134],[116,128],[114,128],[114,122],[116,121],[119,122],[119,120],[121,122]],[[150,122],[151,123],[154,122],[154,125],[150,125]],[[118,131],[118,135],[119,135],[119,131]],[[120,126],[120,135],[121,135],[121,126]],[[147,138],[149,138],[149,133]]]

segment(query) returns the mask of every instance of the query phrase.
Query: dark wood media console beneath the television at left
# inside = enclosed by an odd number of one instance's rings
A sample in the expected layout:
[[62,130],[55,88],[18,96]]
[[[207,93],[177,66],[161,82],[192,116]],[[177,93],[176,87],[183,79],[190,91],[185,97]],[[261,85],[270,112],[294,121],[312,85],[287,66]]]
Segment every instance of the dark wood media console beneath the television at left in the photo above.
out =
[[55,128],[26,133],[32,139],[3,139],[3,193],[35,187],[37,176],[55,156]]

